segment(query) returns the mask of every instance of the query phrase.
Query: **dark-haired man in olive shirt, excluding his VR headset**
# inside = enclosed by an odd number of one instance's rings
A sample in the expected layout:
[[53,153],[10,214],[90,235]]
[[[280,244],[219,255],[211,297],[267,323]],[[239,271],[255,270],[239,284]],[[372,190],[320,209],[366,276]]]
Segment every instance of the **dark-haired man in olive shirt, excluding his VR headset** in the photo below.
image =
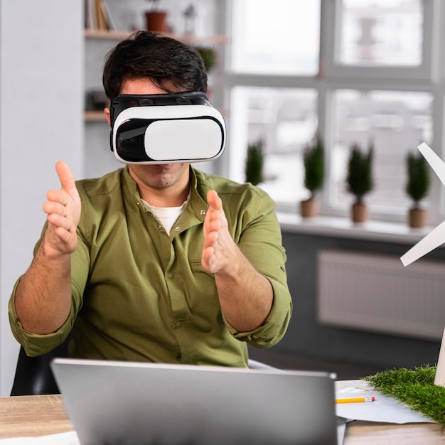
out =
[[[107,56],[109,100],[207,89],[193,48],[139,31]],[[105,109],[111,124],[110,110]],[[56,164],[47,222],[9,302],[28,355],[71,334],[70,356],[247,366],[291,316],[269,196],[190,163],[132,163],[75,182]]]

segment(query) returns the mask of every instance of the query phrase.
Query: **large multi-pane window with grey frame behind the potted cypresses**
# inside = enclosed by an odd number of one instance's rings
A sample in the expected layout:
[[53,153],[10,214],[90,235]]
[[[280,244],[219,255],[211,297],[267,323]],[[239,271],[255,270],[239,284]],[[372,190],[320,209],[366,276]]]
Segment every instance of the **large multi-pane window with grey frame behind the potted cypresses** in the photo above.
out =
[[[326,145],[321,214],[347,216],[350,146],[372,141],[372,218],[404,222],[408,151],[426,142],[442,156],[445,146],[444,68],[434,63],[445,50],[439,1],[280,0],[273,11],[262,0],[229,4],[229,176],[245,180],[247,146],[264,139],[260,186],[279,210],[295,211],[308,196],[302,150],[318,131]],[[424,203],[431,223],[444,213],[440,193],[433,187]]]

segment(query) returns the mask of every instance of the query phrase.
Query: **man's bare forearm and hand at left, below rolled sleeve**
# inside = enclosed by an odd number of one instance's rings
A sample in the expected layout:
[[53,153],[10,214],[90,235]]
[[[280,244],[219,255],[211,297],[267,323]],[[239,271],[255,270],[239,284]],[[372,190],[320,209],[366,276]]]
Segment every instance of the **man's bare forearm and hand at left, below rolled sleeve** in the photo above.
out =
[[55,169],[62,187],[47,194],[43,210],[48,229],[15,296],[23,329],[37,334],[57,331],[71,309],[71,253],[77,248],[80,196],[68,165],[58,162]]

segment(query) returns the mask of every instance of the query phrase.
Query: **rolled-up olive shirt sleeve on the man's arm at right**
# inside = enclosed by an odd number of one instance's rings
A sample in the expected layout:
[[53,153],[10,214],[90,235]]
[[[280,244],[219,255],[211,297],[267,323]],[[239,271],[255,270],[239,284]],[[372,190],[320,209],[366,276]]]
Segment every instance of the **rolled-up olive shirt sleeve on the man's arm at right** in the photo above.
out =
[[[240,332],[227,323],[232,336],[255,348],[269,348],[286,333],[292,312],[292,300],[287,285],[286,253],[282,233],[275,213],[275,203],[264,191],[254,188],[248,204],[240,211],[235,241],[252,266],[272,284],[272,309],[262,326],[250,332]],[[238,209],[240,210],[240,209]]]

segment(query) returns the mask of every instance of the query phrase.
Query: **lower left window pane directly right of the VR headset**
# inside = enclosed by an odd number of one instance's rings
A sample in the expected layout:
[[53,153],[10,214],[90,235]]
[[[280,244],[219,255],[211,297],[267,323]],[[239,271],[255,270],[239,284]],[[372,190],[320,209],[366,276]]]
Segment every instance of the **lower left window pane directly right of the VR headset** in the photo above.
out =
[[301,152],[316,133],[317,92],[303,88],[234,87],[230,113],[230,177],[245,181],[248,144],[264,140],[263,188],[277,203],[309,197]]

